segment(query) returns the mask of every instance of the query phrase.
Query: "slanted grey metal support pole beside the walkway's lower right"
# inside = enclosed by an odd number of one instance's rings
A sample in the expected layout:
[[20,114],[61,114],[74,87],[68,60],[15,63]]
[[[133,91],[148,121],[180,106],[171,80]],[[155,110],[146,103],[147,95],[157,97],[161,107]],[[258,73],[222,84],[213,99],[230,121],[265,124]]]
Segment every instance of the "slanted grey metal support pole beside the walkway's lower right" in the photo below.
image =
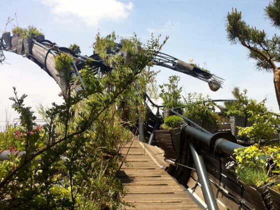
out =
[[199,182],[201,183],[201,188],[203,192],[203,197],[206,202],[207,208],[209,210],[216,210],[218,209],[216,199],[214,197],[214,193],[208,178],[207,170],[203,161],[203,158],[201,155],[199,155],[195,147],[193,146],[192,143],[189,144],[190,151],[193,157],[193,161],[195,164],[195,168],[197,171],[197,175],[199,178]]

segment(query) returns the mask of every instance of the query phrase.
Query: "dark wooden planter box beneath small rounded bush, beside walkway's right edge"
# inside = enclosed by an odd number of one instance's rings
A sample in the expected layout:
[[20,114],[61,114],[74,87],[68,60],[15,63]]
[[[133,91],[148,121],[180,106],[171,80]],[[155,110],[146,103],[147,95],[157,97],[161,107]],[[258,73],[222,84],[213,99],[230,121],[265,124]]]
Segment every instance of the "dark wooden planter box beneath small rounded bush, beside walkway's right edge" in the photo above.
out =
[[176,159],[179,154],[181,128],[155,130],[155,142],[164,150],[164,156]]

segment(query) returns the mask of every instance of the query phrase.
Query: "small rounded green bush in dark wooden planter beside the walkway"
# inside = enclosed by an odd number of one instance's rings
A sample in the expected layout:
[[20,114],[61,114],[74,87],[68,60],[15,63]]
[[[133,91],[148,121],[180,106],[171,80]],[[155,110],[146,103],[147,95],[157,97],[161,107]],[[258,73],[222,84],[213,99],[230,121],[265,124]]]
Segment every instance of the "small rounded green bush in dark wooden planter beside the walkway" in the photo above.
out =
[[164,150],[166,158],[176,159],[179,154],[179,141],[182,117],[177,115],[166,116],[160,130],[155,130],[155,142]]

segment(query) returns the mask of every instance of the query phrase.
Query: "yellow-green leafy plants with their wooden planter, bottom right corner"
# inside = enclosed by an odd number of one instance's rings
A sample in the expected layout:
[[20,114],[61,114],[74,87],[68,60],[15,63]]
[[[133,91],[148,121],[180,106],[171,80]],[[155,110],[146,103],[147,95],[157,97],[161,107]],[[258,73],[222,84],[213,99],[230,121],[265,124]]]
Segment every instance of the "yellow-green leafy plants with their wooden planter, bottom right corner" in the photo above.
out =
[[[272,200],[273,195],[279,195],[269,185],[280,181],[280,146],[254,144],[235,149],[234,155],[235,173],[244,188],[244,199],[264,207],[270,205],[267,188],[271,189]],[[275,202],[278,200],[276,198]]]

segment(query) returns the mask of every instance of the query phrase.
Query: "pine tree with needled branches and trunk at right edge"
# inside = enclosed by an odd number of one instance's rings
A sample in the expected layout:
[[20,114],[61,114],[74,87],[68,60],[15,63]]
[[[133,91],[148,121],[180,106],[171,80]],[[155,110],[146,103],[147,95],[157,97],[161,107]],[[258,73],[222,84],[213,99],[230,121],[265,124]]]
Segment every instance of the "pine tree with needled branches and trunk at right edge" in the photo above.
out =
[[[280,28],[280,0],[270,2],[264,9],[264,13],[272,25]],[[258,30],[242,20],[241,11],[233,9],[227,14],[226,31],[228,40],[240,43],[249,49],[249,57],[255,59],[256,68],[273,72],[273,82],[276,98],[280,109],[280,36],[274,34],[267,38],[264,30]]]

